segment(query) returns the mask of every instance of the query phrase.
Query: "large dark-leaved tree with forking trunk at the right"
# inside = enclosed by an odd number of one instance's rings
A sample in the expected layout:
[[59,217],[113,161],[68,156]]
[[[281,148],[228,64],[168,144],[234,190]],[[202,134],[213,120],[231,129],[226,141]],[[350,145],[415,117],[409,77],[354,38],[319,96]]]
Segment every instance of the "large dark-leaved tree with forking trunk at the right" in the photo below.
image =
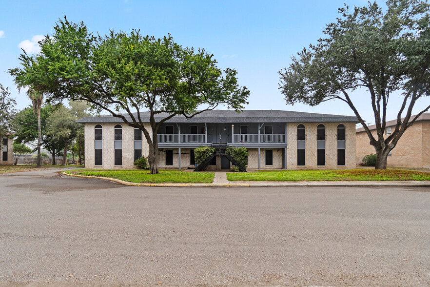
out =
[[[332,99],[346,102],[366,130],[377,154],[376,169],[387,168],[387,156],[404,132],[424,112],[422,102],[411,117],[418,99],[430,92],[429,4],[418,0],[389,0],[385,14],[376,2],[367,7],[339,9],[326,35],[293,57],[288,69],[279,72],[280,89],[287,103],[317,105]],[[352,102],[351,92],[369,96],[376,136]],[[402,104],[390,135],[384,135],[390,98],[401,94]]]

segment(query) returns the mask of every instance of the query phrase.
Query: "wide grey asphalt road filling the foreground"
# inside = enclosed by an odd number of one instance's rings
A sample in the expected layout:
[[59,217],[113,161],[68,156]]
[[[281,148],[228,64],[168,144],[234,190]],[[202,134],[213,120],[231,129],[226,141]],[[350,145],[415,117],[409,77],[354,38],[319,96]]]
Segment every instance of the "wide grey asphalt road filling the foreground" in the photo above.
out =
[[429,286],[429,191],[0,175],[0,286]]

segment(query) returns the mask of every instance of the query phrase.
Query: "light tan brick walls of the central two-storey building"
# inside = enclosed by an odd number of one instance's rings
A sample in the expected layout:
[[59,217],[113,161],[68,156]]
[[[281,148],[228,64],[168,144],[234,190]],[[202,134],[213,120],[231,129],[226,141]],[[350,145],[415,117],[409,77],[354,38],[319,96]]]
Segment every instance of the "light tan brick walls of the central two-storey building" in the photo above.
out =
[[[117,123],[101,123],[103,128],[103,164],[95,165],[95,126],[98,123],[85,124],[85,167],[87,168],[133,168],[134,162],[134,128],[125,124],[122,126],[122,165],[114,165],[114,127]],[[297,125],[300,123],[288,123],[288,147],[287,168],[288,169],[337,169],[355,167],[355,123],[342,123],[346,131],[346,159],[345,166],[337,165],[337,126],[340,123],[322,123],[325,126],[326,149],[325,165],[317,166],[317,125],[320,123],[303,123],[305,125],[306,151],[305,166],[297,167]],[[146,126],[149,129],[149,124]],[[149,147],[142,135],[142,155],[148,156]],[[165,150],[173,150],[173,164],[166,165]],[[273,151],[273,164],[266,165],[266,150]],[[193,167],[190,163],[191,148],[181,148],[181,168]],[[258,168],[258,148],[248,148],[248,167]],[[285,147],[260,147],[260,168],[261,169],[280,169],[282,168],[282,158]],[[159,168],[178,168],[178,148],[160,148],[157,165]],[[217,157],[216,165],[209,165],[208,170],[220,169],[221,161]]]

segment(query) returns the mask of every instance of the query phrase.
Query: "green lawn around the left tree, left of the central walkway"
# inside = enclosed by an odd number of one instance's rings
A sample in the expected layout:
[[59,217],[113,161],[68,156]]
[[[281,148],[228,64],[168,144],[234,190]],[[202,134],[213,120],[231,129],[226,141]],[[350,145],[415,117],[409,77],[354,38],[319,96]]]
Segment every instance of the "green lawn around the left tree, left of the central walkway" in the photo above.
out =
[[77,169],[67,171],[67,173],[116,178],[137,184],[211,184],[215,175],[214,172],[184,172],[180,170],[160,170],[159,174],[150,174],[149,170],[138,169]]

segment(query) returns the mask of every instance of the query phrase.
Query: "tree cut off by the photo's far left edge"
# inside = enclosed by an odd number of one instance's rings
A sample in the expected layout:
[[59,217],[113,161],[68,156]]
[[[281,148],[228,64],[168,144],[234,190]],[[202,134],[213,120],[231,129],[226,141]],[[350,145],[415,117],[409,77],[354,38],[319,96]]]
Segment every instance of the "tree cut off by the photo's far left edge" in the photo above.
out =
[[8,88],[0,83],[0,140],[13,129],[17,102],[10,97]]

